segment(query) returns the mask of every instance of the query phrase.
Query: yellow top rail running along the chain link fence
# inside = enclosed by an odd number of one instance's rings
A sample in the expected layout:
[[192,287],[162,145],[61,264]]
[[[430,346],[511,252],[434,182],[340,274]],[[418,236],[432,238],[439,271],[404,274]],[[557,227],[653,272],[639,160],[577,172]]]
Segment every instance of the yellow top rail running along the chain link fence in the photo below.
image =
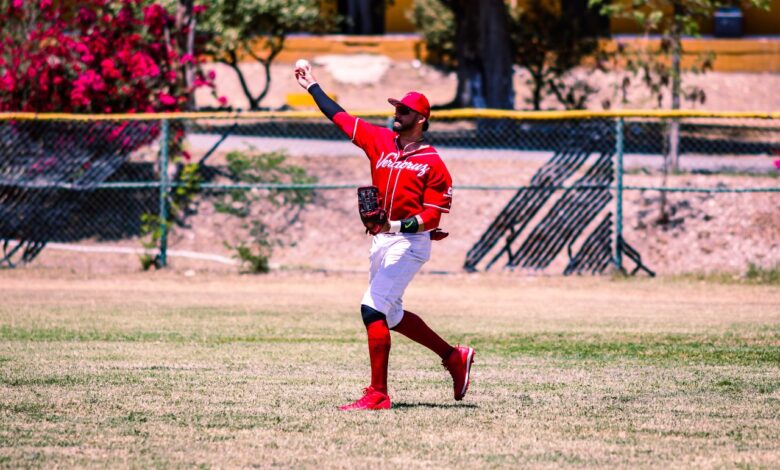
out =
[[[355,111],[360,117],[389,117],[391,110]],[[605,118],[715,118],[780,119],[780,111],[691,111],[630,109],[616,111],[511,111],[501,109],[450,109],[434,111],[432,119],[563,120]],[[184,112],[148,114],[0,113],[0,121],[150,121],[159,119],[304,119],[319,118],[319,111]]]

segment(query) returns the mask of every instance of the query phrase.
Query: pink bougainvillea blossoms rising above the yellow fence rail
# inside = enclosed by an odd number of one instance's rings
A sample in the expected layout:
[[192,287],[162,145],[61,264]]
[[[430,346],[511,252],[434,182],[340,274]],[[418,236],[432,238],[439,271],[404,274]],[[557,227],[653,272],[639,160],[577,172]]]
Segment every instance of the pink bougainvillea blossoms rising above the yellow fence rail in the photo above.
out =
[[0,24],[0,111],[176,111],[213,81],[185,84],[186,27],[149,0],[0,0]]

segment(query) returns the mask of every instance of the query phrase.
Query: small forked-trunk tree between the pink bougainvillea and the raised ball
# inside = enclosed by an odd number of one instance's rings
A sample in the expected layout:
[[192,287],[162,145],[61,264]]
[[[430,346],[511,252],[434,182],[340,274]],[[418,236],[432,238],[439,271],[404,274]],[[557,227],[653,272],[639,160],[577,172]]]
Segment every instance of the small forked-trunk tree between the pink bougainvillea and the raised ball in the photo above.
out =
[[[215,0],[209,2],[197,31],[203,38],[203,52],[235,71],[250,109],[256,110],[268,93],[271,63],[284,48],[287,35],[321,33],[333,26],[334,19],[320,15],[317,0]],[[257,95],[239,68],[245,58],[259,63],[264,71]]]

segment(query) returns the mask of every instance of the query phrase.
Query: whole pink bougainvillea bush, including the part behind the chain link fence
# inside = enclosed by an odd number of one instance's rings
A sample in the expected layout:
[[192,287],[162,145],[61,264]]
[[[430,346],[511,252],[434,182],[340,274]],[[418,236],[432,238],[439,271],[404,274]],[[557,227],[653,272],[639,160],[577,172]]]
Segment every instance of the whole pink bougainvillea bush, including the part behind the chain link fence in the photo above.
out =
[[[192,37],[190,15],[203,8],[176,15],[155,0],[0,0],[0,112],[185,109],[195,88],[213,89],[214,77],[199,73],[197,54],[182,48]],[[162,144],[178,164],[188,159],[182,122],[171,121],[170,131]],[[50,239],[57,227],[46,231],[36,221],[67,221],[72,214],[79,223],[89,223],[96,206],[76,204],[86,200],[87,192],[74,195],[58,185],[94,188],[160,132],[159,120],[0,121],[0,174],[13,184],[24,183],[22,188],[47,188],[0,194],[0,213],[7,209],[13,217],[4,220],[15,221],[0,225],[0,239]],[[190,175],[188,185],[171,192],[169,217],[179,200],[193,194],[189,188],[197,175],[190,166],[182,168],[187,171],[175,178]],[[148,221],[153,228],[160,225],[156,215]]]

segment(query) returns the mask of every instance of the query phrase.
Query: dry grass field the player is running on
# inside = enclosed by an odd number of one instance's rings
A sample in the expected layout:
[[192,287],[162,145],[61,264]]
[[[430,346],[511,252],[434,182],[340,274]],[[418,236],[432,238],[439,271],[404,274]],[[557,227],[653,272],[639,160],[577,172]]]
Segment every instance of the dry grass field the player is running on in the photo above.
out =
[[362,275],[0,271],[0,466],[776,467],[780,289],[421,275],[406,306],[477,348],[452,400],[393,336],[367,385]]

